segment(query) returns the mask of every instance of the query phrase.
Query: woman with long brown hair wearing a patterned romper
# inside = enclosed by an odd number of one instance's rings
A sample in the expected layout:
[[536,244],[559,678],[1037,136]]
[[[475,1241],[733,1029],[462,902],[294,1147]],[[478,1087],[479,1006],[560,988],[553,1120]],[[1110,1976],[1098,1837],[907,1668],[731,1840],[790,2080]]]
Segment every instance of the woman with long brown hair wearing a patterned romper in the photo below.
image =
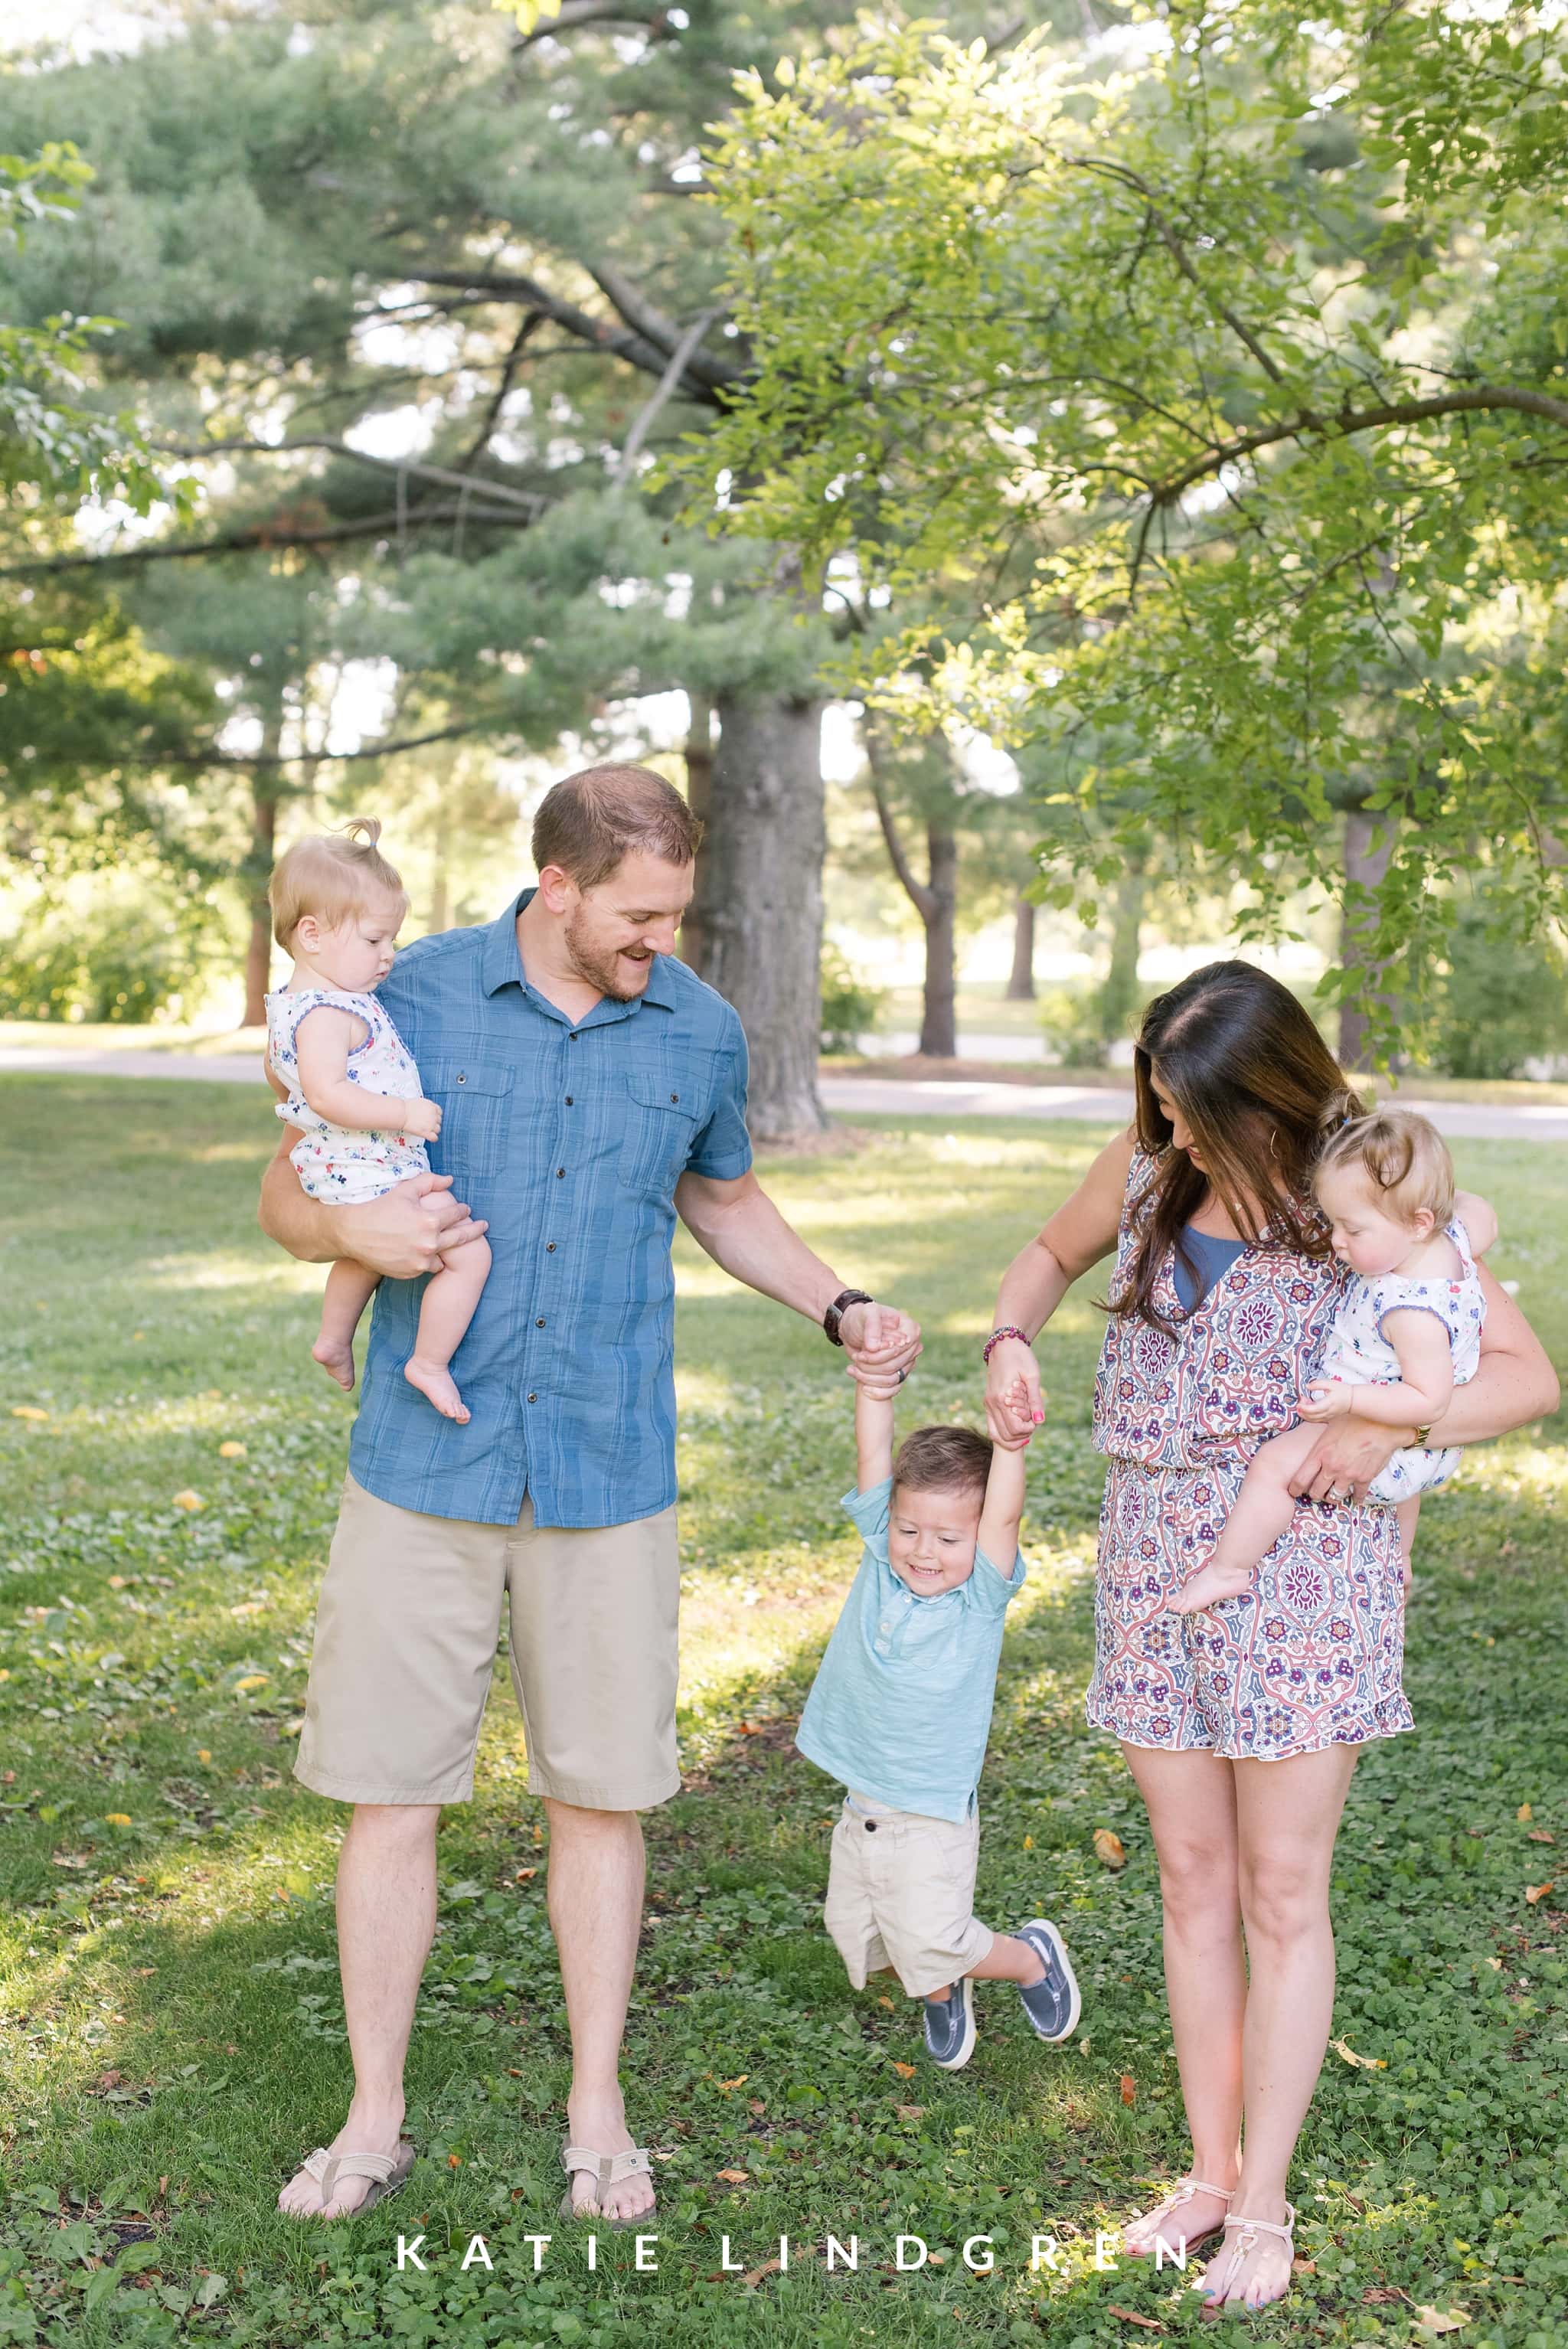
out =
[[[1120,1741],[1148,1804],[1192,2133],[1190,2175],[1129,2225],[1127,2250],[1221,2234],[1202,2283],[1218,2314],[1265,2307],[1291,2281],[1286,2173],[1333,2008],[1333,1837],[1359,1745],[1411,1727],[1399,1534],[1361,1494],[1415,1431],[1336,1421],[1296,1487],[1331,1506],[1296,1510],[1256,1593],[1169,1611],[1317,1367],[1345,1276],[1307,1177],[1322,1135],[1359,1102],[1289,989],[1211,963],[1150,1003],[1136,1104],[1134,1132],[1101,1151],[1002,1280],[1009,1334],[991,1346],[986,1409],[998,1442],[1028,1442],[1028,1341],[1117,1250],[1094,1395],[1110,1470],[1089,1719]],[[1439,1445],[1556,1409],[1547,1355],[1481,1278],[1481,1369],[1455,1388]],[[1019,1374],[1026,1409],[1005,1402]]]

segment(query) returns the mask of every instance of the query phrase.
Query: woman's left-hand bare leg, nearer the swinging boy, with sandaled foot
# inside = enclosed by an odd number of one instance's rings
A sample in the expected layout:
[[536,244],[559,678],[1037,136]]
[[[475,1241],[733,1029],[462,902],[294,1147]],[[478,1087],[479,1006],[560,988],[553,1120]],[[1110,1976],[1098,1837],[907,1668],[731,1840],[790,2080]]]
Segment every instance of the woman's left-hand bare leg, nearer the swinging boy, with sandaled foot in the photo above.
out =
[[[1164,1900],[1164,1987],[1176,2039],[1181,2098],[1192,2133],[1192,2178],[1237,2180],[1242,2133],[1242,1900],[1237,1889],[1235,1764],[1209,1752],[1122,1745],[1148,1804]],[[1174,2210],[1155,2229],[1134,2222],[1127,2250],[1153,2255],[1155,2236],[1181,2253],[1225,2217],[1214,2194]]]

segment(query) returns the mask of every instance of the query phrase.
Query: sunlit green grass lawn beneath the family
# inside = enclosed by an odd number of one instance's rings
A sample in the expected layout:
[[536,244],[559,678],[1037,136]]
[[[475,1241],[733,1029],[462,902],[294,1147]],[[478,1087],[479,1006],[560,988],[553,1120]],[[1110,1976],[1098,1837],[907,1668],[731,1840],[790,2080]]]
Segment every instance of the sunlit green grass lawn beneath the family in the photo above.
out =
[[[1094,1128],[937,1120],[772,1186],[847,1278],[927,1327],[908,1412],[979,1400],[1000,1264]],[[681,1252],[685,1792],[648,1820],[631,2114],[657,2149],[657,2274],[556,2222],[566,2032],[542,1806],[505,1680],[477,1799],[441,1830],[411,2055],[423,2149],[336,2229],[275,2215],[338,2123],[343,1813],[289,1776],[347,1407],[307,1360],[319,1273],[254,1224],[272,1120],[244,1088],[0,1078],[0,2342],[859,2349],[1192,2335],[1178,2274],[1096,2269],[1096,2229],[1185,2156],[1160,1898],[1117,1752],[1087,1734],[1096,1315],[1042,1358],[1030,1583],[984,1783],[981,1914],[1061,1921],[1082,2037],[1040,2048],[1002,1985],[958,2077],[911,2008],[854,1994],[819,1926],[836,1790],[791,1724],[854,1564],[850,1395],[817,1334]],[[1554,1146],[1460,1144],[1568,1358]],[[14,1416],[14,1414],[28,1416]],[[1476,1454],[1427,1513],[1418,1734],[1373,1745],[1338,1858],[1336,2051],[1300,2145],[1307,2262],[1265,2342],[1556,2349],[1568,2307],[1563,1433]],[[200,1506],[181,1506],[200,1501]],[[1101,1865],[1096,1828],[1127,1846]],[[1556,1839],[1556,1842],[1554,1842]],[[425,2236],[425,2274],[394,2267]],[[768,2271],[777,2236],[786,2276]],[[474,2234],[488,2243],[486,2264]],[[530,2234],[552,2234],[533,2271]],[[859,2236],[857,2274],[826,2239]],[[894,2239],[930,2264],[894,2274]],[[1028,2271],[1030,2236],[1059,2267]],[[739,2271],[725,2271],[723,2239]],[[960,2248],[995,2239],[995,2271]],[[976,2253],[979,2257],[979,2253]]]

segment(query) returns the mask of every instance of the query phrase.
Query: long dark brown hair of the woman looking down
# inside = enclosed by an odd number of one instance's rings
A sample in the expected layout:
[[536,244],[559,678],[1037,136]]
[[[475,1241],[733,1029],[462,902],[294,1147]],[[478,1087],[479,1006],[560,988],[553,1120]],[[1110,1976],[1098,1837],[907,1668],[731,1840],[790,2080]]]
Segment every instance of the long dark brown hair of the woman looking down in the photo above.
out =
[[[1181,1109],[1204,1165],[1171,1149],[1171,1123],[1155,1081]],[[1329,1229],[1312,1205],[1312,1163],[1361,1102],[1289,987],[1253,963],[1204,963],[1143,1012],[1134,1052],[1138,1142],[1155,1177],[1136,1203],[1138,1247],[1131,1280],[1108,1311],[1169,1330],[1155,1306],[1167,1254],[1185,1247],[1185,1224],[1214,1191],[1246,1240],[1268,1238],[1300,1257],[1329,1254]],[[1263,1224],[1253,1200],[1265,1210]]]

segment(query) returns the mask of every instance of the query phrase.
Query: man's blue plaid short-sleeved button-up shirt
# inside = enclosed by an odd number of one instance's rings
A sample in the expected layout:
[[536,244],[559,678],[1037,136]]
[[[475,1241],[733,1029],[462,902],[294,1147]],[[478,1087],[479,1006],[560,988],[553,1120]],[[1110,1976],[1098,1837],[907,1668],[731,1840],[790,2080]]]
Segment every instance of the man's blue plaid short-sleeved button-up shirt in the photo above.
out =
[[751,1165],[746,1038],[685,963],[568,1019],[523,975],[516,914],[423,937],[378,996],[441,1104],[430,1163],[491,1226],[491,1278],[444,1419],[404,1379],[423,1280],[376,1292],[350,1445],[399,1508],[514,1525],[629,1525],[676,1499],[674,1191]]

